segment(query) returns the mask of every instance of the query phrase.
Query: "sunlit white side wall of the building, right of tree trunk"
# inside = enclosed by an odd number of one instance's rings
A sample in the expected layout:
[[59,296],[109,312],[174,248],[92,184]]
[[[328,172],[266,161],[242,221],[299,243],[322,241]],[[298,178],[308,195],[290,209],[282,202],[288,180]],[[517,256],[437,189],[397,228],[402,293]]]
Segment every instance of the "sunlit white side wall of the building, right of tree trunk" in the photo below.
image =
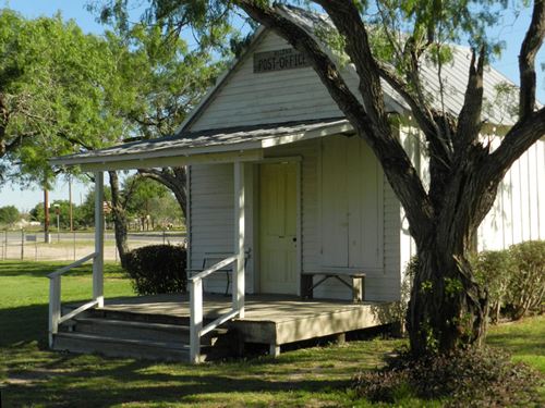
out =
[[[499,145],[499,137],[493,147]],[[479,228],[480,250],[545,239],[545,141],[538,140],[507,172],[496,201]]]

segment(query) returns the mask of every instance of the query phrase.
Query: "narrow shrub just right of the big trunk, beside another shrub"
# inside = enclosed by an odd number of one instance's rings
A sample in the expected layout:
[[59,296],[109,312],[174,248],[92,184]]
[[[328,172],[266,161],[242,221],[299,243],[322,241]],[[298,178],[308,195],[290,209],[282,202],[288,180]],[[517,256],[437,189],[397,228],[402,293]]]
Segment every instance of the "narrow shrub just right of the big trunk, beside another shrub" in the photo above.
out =
[[497,322],[512,276],[511,254],[508,250],[486,250],[471,261],[476,280],[488,289],[491,319]]

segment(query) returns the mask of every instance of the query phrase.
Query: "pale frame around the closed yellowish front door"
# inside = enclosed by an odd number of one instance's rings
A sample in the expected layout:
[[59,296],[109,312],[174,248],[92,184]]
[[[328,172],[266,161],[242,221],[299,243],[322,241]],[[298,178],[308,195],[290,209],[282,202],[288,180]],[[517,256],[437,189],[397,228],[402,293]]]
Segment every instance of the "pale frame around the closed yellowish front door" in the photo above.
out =
[[288,157],[278,157],[278,158],[266,158],[262,159],[257,162],[255,162],[256,166],[255,169],[257,170],[256,173],[256,180],[257,180],[257,188],[255,188],[255,196],[254,196],[254,203],[257,203],[254,208],[256,211],[254,211],[253,218],[254,218],[254,225],[256,228],[254,230],[254,243],[253,247],[255,248],[254,255],[255,255],[255,263],[254,263],[254,293],[261,293],[261,242],[259,242],[259,236],[261,236],[261,222],[259,222],[259,215],[261,215],[261,208],[262,208],[262,202],[259,199],[261,195],[261,165],[262,164],[281,164],[281,163],[294,163],[295,164],[295,236],[296,236],[296,249],[295,249],[295,274],[296,274],[296,296],[301,296],[301,271],[302,271],[302,254],[303,254],[303,240],[302,240],[302,228],[301,228],[301,185],[302,185],[302,172],[301,172],[301,162],[303,161],[303,158],[300,156],[288,156]]

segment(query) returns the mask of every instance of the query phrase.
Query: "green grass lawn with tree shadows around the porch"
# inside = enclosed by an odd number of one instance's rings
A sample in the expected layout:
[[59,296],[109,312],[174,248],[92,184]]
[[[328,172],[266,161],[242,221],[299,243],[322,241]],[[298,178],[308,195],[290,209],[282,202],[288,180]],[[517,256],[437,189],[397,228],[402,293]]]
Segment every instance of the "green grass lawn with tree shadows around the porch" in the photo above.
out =
[[[206,363],[154,363],[51,353],[46,349],[47,273],[59,263],[0,262],[0,391],[4,407],[242,407],[370,406],[349,385],[360,370],[384,364],[402,339],[372,339],[298,349],[278,359]],[[132,294],[108,264],[107,297]],[[63,301],[90,297],[90,269],[62,280]],[[508,348],[543,372],[545,320],[495,327],[488,342]],[[525,339],[530,338],[530,342]],[[400,406],[439,406],[405,399]]]

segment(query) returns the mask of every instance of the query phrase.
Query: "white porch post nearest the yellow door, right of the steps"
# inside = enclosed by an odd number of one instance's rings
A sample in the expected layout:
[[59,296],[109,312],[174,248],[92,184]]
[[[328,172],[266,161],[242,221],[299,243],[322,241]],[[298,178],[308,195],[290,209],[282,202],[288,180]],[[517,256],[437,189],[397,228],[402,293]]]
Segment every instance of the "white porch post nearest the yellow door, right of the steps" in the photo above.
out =
[[244,318],[244,163],[234,162],[234,254],[233,309]]

